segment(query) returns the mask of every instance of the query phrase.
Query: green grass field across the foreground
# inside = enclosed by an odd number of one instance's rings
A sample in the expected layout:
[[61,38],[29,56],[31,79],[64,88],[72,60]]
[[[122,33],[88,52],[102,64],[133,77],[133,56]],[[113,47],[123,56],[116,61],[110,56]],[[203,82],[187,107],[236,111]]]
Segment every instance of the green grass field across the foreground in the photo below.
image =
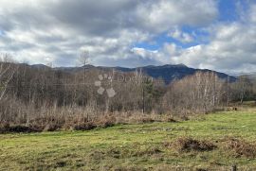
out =
[[[212,150],[178,150],[180,137]],[[256,159],[225,140],[256,145],[256,110],[221,111],[189,121],[119,125],[90,131],[0,135],[0,170],[255,170]],[[249,147],[247,147],[249,145]],[[243,148],[243,149],[244,149]]]

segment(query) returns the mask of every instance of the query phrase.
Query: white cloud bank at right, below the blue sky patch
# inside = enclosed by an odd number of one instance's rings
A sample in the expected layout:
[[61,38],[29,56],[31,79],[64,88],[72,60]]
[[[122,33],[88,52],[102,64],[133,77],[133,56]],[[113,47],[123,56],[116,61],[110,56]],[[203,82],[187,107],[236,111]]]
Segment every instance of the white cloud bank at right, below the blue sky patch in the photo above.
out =
[[[256,72],[256,23],[252,20],[255,6],[247,12],[247,20],[216,23],[208,30],[208,43],[183,48],[165,43],[158,50],[159,61],[184,63],[190,67],[232,73]],[[174,29],[169,35],[182,42],[183,32]],[[145,53],[145,52],[144,52]]]

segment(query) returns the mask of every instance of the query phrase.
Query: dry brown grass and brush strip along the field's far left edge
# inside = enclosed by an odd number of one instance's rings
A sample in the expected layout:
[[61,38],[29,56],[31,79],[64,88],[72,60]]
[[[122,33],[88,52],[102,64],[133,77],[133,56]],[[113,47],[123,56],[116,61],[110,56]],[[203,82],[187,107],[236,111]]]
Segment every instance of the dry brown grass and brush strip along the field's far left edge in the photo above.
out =
[[[30,119],[9,119],[0,125],[0,133],[38,132],[56,130],[90,130],[93,128],[109,128],[118,124],[146,124],[153,122],[177,122],[171,115],[156,113],[143,114],[139,111],[130,112],[82,112],[69,109],[51,109],[37,113]],[[5,123],[5,124],[4,124]]]

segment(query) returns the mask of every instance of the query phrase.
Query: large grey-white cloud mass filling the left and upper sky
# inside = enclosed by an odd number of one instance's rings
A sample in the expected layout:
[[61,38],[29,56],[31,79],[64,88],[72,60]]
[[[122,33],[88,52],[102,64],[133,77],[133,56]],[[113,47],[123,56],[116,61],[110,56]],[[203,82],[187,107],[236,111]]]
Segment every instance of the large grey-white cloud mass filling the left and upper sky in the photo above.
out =
[[177,26],[207,26],[217,14],[214,0],[1,0],[0,51],[31,63],[74,65],[88,49],[94,64],[157,64],[166,57],[142,58],[133,44]]

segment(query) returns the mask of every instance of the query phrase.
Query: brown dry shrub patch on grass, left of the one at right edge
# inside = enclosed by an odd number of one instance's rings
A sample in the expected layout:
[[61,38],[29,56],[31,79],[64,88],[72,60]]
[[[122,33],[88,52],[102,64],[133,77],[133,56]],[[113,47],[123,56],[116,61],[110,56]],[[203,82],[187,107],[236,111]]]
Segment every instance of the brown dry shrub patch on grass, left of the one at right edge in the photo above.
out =
[[[167,144],[168,145],[168,144]],[[173,144],[180,152],[190,152],[190,151],[211,151],[216,148],[216,145],[213,145],[209,141],[199,141],[192,138],[178,138]]]

